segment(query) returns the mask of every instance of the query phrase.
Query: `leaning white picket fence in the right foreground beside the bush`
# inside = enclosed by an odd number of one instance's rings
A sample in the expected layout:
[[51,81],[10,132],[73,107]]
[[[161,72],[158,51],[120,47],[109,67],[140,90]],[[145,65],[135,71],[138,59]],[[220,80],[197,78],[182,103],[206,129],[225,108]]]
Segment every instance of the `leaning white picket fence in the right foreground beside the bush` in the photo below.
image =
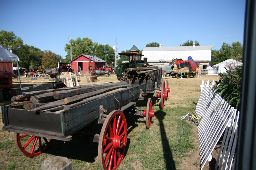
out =
[[212,85],[209,80],[205,85],[202,81],[201,96],[196,105],[197,116],[201,119],[198,125],[200,169],[203,169],[207,161],[211,161],[212,151],[223,135],[215,169],[226,170],[232,168],[234,160],[239,112],[215,93]]

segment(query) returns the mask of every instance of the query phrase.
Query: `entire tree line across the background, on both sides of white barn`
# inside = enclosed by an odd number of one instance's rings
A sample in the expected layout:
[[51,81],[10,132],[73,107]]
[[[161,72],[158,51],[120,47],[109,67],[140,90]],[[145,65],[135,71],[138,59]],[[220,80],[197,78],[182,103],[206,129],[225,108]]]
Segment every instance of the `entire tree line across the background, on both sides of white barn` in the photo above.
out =
[[[194,42],[196,43],[196,46],[200,46],[198,41],[193,40],[188,40],[185,43],[180,44],[180,46],[191,46]],[[20,59],[19,66],[27,69],[37,69],[41,65],[44,65],[45,68],[55,68],[57,67],[57,64],[53,63],[57,63],[58,61],[68,63],[70,61],[70,45],[72,46],[72,59],[81,54],[94,54],[102,60],[105,60],[108,64],[115,60],[115,51],[111,46],[93,42],[87,37],[82,39],[77,37],[76,40],[66,43],[64,47],[64,50],[67,52],[65,59],[51,50],[42,51],[34,46],[24,44],[21,37],[17,37],[12,31],[0,31],[0,45],[7,50],[11,49],[12,53],[18,55]],[[159,43],[151,42],[146,44],[146,47],[159,47]],[[129,50],[122,50],[121,53],[123,52],[129,52]],[[142,50],[139,53],[142,54]],[[210,62],[210,64],[215,65],[227,59],[237,58],[239,56],[242,58],[242,55],[243,46],[239,41],[233,42],[231,45],[223,42],[222,47],[219,50],[212,50],[212,62]],[[121,62],[129,60],[129,56],[121,55],[118,60],[121,60]]]

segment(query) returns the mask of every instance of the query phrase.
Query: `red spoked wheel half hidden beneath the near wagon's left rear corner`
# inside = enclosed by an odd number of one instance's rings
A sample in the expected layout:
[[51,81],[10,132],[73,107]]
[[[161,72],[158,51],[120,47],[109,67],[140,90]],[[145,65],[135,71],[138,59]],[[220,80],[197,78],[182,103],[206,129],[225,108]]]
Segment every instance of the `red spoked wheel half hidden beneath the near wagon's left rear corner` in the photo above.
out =
[[15,133],[17,149],[25,156],[36,157],[46,151],[52,144],[53,139],[38,137],[27,134]]

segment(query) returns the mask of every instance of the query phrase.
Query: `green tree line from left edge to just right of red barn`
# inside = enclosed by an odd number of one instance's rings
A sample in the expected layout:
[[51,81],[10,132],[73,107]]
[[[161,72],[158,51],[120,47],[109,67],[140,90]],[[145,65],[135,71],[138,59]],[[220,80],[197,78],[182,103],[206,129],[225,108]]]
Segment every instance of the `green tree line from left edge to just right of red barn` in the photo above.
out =
[[[0,31],[0,45],[18,55],[19,66],[27,69],[37,70],[41,65],[44,65],[45,68],[56,68],[57,64],[54,63],[58,61],[68,63],[70,61],[70,43],[67,43],[64,47],[67,52],[65,59],[51,50],[42,51],[40,48],[24,44],[21,37],[17,37],[12,31]],[[115,60],[115,51],[108,44],[99,44],[98,42],[92,42],[89,38],[81,39],[78,37],[76,40],[72,40],[71,45],[72,59],[81,54],[94,54],[109,64]],[[15,62],[14,65],[16,65]]]

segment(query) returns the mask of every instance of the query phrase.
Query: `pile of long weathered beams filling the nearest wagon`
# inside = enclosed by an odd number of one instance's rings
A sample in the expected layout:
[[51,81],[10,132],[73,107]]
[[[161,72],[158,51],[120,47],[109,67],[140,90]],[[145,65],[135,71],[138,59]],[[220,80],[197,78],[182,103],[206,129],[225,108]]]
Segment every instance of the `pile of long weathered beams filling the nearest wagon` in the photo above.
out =
[[126,82],[118,82],[23,92],[22,95],[12,97],[11,106],[40,112],[62,113],[83,102],[95,100],[98,96],[104,97],[110,92],[123,90],[127,86]]

